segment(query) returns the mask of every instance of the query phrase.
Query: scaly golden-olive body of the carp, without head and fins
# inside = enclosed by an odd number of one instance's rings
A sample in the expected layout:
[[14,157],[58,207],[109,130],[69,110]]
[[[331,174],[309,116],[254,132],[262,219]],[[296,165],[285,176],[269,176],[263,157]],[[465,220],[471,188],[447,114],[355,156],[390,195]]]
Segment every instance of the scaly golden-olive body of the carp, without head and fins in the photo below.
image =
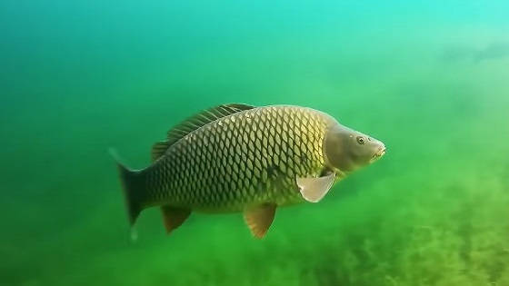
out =
[[302,202],[295,178],[324,171],[330,117],[296,106],[235,113],[189,133],[145,169],[143,204],[202,212]]

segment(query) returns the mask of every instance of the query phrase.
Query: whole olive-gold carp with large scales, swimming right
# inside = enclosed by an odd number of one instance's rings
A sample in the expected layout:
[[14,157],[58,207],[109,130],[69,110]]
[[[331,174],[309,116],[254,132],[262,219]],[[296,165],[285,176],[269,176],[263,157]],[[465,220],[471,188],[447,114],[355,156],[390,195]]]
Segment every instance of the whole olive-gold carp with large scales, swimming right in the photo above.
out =
[[320,202],[385,152],[381,141],[312,108],[222,104],[168,131],[145,169],[116,163],[131,226],[149,207],[161,209],[167,233],[191,212],[242,212],[261,239],[276,209]]

